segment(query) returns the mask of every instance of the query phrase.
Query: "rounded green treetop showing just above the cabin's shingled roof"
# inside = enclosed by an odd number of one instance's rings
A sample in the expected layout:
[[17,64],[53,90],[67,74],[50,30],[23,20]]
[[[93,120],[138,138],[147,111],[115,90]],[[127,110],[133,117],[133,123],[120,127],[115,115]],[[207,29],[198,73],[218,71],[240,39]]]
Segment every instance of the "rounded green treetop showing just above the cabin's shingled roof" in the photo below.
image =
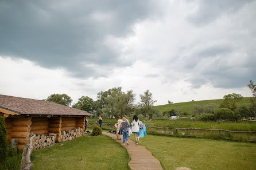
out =
[[52,101],[57,104],[69,106],[73,100],[67,94],[51,94],[51,96],[46,98],[46,101]]

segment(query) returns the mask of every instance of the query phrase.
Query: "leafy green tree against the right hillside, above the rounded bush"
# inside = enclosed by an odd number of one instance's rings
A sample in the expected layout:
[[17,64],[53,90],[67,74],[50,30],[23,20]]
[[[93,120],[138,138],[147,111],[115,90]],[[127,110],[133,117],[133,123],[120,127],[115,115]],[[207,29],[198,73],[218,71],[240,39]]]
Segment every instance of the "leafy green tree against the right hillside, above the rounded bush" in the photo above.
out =
[[220,108],[228,108],[230,110],[234,110],[236,108],[236,103],[243,100],[243,96],[241,94],[227,94],[224,97],[222,104],[220,104]]

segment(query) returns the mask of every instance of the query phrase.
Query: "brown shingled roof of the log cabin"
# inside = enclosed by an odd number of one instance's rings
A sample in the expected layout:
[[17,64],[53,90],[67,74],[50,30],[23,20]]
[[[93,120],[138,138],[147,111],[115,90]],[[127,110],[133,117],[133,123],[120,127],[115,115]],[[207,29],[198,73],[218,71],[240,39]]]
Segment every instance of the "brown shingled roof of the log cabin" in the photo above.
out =
[[71,108],[50,101],[31,98],[13,97],[0,94],[0,108],[18,114],[49,114],[49,115],[86,115],[93,116],[84,110]]

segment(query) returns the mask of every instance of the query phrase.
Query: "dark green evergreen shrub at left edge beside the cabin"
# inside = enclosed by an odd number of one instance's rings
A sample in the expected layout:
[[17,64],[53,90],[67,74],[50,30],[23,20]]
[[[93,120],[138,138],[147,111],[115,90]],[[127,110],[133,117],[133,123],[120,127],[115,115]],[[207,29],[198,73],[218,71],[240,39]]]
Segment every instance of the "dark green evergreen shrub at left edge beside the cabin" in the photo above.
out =
[[7,153],[7,131],[5,126],[5,117],[0,117],[0,163],[6,160]]

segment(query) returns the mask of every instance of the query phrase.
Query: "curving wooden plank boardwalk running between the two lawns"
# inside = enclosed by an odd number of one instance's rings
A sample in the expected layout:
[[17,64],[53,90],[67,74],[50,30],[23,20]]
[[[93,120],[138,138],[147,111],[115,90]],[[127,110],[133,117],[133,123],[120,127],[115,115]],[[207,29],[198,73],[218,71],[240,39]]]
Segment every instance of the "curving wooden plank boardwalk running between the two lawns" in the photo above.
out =
[[[108,132],[102,132],[102,134],[112,137],[112,139],[114,139],[118,143],[121,143],[121,145],[123,146],[123,139],[116,140],[117,136]],[[142,147],[141,145],[136,145],[134,141],[131,141],[129,139],[128,143],[129,145],[125,144],[125,146],[123,147],[127,149],[131,157],[128,165],[132,170],[164,170],[160,164],[160,161],[156,159],[156,157],[154,157],[152,153],[149,152],[145,147]]]

